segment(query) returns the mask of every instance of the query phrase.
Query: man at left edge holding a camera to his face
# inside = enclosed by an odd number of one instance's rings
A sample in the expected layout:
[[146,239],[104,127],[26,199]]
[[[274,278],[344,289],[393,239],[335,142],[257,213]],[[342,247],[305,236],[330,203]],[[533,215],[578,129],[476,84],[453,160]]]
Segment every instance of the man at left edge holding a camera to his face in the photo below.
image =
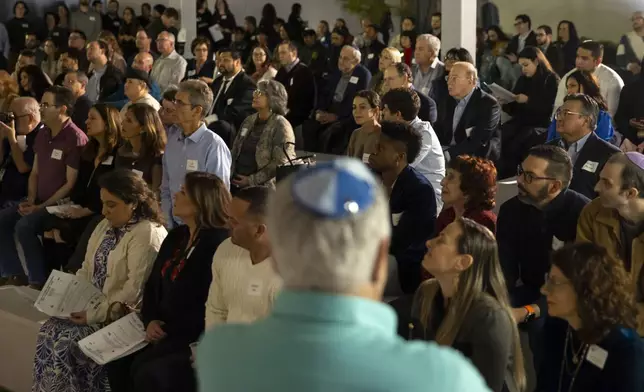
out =
[[40,105],[31,97],[13,100],[13,120],[0,122],[0,210],[16,206],[27,196],[34,163],[34,143],[43,128]]

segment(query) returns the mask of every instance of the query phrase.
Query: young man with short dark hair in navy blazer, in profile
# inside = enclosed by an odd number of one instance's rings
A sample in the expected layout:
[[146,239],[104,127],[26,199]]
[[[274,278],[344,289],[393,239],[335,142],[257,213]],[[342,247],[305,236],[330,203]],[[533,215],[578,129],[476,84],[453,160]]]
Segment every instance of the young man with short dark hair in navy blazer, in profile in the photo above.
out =
[[389,193],[391,244],[389,254],[398,263],[398,277],[404,293],[413,293],[421,282],[425,242],[436,223],[434,187],[410,166],[420,152],[421,134],[402,122],[383,121],[377,153],[369,166],[382,178]]

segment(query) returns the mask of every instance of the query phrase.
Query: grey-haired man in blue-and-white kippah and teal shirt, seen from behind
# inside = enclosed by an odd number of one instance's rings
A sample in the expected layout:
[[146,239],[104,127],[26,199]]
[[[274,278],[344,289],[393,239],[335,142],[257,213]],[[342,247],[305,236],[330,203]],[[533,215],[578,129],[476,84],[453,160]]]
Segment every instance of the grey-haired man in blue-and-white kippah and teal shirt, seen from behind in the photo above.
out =
[[267,224],[284,288],[266,319],[206,333],[200,389],[487,391],[457,352],[397,336],[396,314],[381,302],[389,220],[384,191],[352,158],[278,184]]

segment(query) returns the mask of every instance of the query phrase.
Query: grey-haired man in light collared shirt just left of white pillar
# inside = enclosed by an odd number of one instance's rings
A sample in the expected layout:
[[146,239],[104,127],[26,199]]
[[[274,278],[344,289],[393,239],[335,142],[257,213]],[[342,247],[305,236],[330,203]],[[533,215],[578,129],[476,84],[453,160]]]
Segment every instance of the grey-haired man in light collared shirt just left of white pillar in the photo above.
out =
[[445,64],[438,60],[441,40],[431,34],[421,34],[416,38],[414,51],[414,87],[430,96],[434,80],[445,76]]

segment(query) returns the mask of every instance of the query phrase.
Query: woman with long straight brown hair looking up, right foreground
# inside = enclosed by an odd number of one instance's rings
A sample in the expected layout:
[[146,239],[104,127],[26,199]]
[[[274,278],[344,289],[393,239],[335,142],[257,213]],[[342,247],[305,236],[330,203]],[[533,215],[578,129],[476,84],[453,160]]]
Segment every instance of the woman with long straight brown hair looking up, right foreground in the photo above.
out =
[[492,391],[525,388],[523,354],[492,232],[467,218],[427,242],[423,267],[435,278],[416,291],[411,337],[468,357]]

